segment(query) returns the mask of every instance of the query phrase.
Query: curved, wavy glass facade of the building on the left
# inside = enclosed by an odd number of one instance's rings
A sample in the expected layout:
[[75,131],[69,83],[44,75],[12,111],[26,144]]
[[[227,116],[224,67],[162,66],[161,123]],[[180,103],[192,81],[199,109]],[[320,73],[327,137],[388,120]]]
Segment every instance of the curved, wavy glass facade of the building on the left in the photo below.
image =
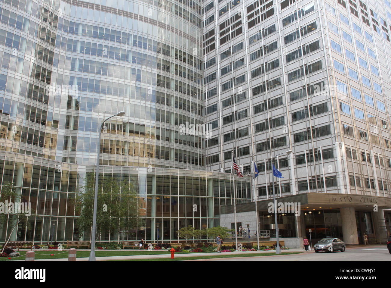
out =
[[[155,222],[164,240],[219,223],[232,175],[206,174],[204,135],[179,133],[204,124],[201,11],[194,0],[0,2],[2,184],[14,183],[37,214],[11,240],[79,239],[75,191],[98,152],[100,173],[138,187],[146,224],[123,239],[154,240]],[[101,121],[121,110],[98,139]],[[238,185],[246,201],[250,188]],[[2,225],[0,241],[10,233]]]

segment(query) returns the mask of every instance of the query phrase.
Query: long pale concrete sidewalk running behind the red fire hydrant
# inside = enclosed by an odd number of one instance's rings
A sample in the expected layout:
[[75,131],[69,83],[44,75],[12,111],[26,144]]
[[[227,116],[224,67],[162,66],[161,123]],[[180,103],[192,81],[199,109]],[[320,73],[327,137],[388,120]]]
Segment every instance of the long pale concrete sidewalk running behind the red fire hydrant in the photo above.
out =
[[[99,250],[95,250],[99,251]],[[120,251],[120,250],[117,250]],[[129,250],[127,250],[129,251]],[[148,250],[147,250],[148,251]],[[149,250],[151,251],[151,250]],[[163,250],[166,251],[167,250]],[[281,250],[281,252],[303,252],[304,249],[301,248],[292,248],[289,250]],[[241,255],[250,255],[250,254],[275,254],[276,250],[268,250],[268,251],[235,251],[235,252],[222,252],[222,253],[186,253],[186,254],[176,254],[175,258],[181,258],[181,257],[197,257],[197,256],[217,256],[217,255],[232,255],[232,254],[241,254]],[[171,258],[171,254],[154,254],[154,255],[125,255],[125,256],[107,256],[107,257],[96,257],[97,261],[109,261],[109,260],[130,260],[130,259],[154,259],[154,258]],[[24,260],[14,260],[14,261],[24,261]],[[61,258],[61,259],[35,259],[35,261],[68,261],[68,258]],[[81,257],[77,258],[76,254],[76,261],[88,261],[88,257]]]

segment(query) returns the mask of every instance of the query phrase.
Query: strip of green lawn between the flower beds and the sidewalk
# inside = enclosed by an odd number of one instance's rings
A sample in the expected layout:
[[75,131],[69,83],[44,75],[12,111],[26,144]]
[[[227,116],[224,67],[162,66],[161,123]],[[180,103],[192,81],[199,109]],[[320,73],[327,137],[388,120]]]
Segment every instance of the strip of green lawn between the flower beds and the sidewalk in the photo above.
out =
[[[25,254],[27,251],[19,251],[20,257],[11,257],[11,260],[25,260]],[[64,253],[65,252],[65,253]],[[43,255],[40,255],[43,254]],[[54,254],[54,256],[50,256]],[[115,251],[115,250],[106,250],[106,251],[95,251],[95,257],[104,257],[104,256],[129,256],[129,255],[154,255],[154,254],[171,254],[169,251],[151,250],[151,251]],[[190,254],[190,252],[175,252],[175,254]],[[90,251],[77,251],[76,257],[83,258],[89,257]],[[68,258],[68,251],[58,251],[58,250],[35,250],[35,259],[53,259],[53,258]],[[8,257],[0,257],[0,261],[11,261]]]

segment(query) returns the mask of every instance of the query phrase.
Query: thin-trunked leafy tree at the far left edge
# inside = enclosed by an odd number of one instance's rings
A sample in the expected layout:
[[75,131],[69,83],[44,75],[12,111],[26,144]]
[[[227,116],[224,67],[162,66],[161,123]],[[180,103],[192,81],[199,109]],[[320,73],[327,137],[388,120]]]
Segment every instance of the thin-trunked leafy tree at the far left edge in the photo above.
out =
[[[5,207],[6,204],[7,207]],[[22,210],[20,209],[21,207],[19,204],[23,205]],[[16,192],[16,188],[13,186],[13,183],[8,183],[1,187],[0,224],[4,224],[3,227],[5,227],[8,222],[8,231],[11,230],[1,253],[4,252],[4,248],[9,242],[12,232],[14,232],[15,228],[18,227],[20,223],[25,223],[27,229],[31,228],[31,223],[29,223],[27,219],[34,213],[34,211],[31,209],[31,206],[27,206],[27,210],[25,207],[25,202],[23,203],[21,201],[20,193]]]

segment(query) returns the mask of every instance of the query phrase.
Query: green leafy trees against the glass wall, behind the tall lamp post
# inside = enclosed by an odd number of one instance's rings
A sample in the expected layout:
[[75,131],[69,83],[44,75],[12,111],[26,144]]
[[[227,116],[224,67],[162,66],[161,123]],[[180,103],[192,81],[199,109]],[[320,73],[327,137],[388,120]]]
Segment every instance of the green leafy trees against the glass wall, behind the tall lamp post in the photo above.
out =
[[[77,219],[80,237],[84,231],[90,231],[93,220],[95,197],[95,174],[87,174],[85,185],[76,196],[76,207],[80,211]],[[97,199],[97,233],[104,231],[129,232],[137,225],[143,225],[140,217],[138,196],[135,185],[129,181],[116,181],[113,178],[99,177]]]

